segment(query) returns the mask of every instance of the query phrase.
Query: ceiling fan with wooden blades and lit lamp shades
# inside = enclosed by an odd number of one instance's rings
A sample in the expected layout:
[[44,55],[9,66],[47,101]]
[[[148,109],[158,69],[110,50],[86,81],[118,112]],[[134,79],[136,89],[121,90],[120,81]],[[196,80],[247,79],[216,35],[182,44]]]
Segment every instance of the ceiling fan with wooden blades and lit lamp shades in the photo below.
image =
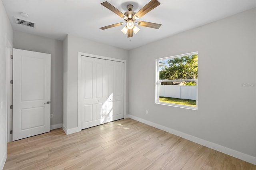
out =
[[145,21],[135,22],[135,20],[138,20],[139,18],[144,16],[146,13],[150,12],[151,10],[156,8],[158,5],[160,5],[160,2],[158,2],[157,0],[151,0],[150,2],[148,2],[148,4],[146,4],[143,8],[141,8],[137,13],[132,11],[133,5],[130,4],[127,6],[128,11],[124,12],[124,14],[108,2],[102,2],[101,4],[106,8],[108,8],[109,10],[111,10],[112,12],[114,12],[115,14],[117,14],[118,16],[120,16],[121,18],[123,18],[125,21],[125,22],[119,22],[109,26],[101,27],[100,28],[101,30],[126,24],[126,26],[121,31],[124,34],[128,33],[127,37],[129,38],[133,36],[133,31],[136,34],[140,30],[134,24],[137,24],[138,26],[150,27],[155,29],[160,28],[160,26],[162,25],[162,24],[156,24],[156,23],[145,22]]

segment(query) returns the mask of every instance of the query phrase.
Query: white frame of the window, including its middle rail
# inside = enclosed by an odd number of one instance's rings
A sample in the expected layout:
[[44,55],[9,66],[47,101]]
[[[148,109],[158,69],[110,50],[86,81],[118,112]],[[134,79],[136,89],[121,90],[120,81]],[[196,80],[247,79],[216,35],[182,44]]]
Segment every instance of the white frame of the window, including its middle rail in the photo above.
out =
[[[170,58],[176,58],[176,57],[183,57],[183,56],[187,56],[187,55],[194,55],[194,54],[198,54],[198,52],[192,52],[192,53],[185,53],[185,54],[181,54],[181,55],[175,55],[175,56],[171,56],[171,57],[163,57],[163,58],[158,58],[156,59],[156,97],[155,97],[155,103],[156,104],[160,104],[160,105],[167,105],[167,106],[172,106],[172,107],[180,107],[180,108],[185,108],[185,109],[192,109],[192,110],[198,110],[198,79],[189,79],[189,80],[160,80],[159,79],[159,65],[158,65],[158,61],[163,60],[163,59],[170,59]],[[192,106],[187,106],[187,105],[179,105],[179,104],[175,104],[175,103],[166,103],[166,102],[160,102],[159,101],[159,85],[161,85],[162,82],[167,82],[167,81],[195,81],[196,82],[196,107],[192,107]]]

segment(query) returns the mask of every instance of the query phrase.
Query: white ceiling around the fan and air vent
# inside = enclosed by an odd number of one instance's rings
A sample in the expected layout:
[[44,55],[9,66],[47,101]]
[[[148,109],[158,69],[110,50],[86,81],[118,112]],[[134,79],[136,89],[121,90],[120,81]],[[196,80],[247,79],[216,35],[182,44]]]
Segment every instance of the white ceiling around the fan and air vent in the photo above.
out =
[[[120,31],[124,25],[99,29],[124,22],[100,4],[105,0],[2,1],[16,31],[56,40],[64,40],[67,34],[71,34],[123,49],[133,49],[256,7],[256,0],[158,0],[161,4],[139,20],[162,24],[159,30],[138,26],[140,31],[134,37],[126,38]],[[123,13],[127,11],[128,4],[133,4],[134,11],[137,12],[149,1],[108,0]],[[29,17],[20,16],[20,12],[28,14]],[[34,22],[36,28],[16,24],[14,16]]]

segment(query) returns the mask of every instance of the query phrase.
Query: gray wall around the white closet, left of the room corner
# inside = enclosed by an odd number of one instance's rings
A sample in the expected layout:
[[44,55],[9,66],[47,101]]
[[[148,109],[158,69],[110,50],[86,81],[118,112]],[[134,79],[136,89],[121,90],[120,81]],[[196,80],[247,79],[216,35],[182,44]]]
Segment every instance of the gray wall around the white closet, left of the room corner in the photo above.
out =
[[[64,115],[67,116],[67,118],[64,118],[64,120],[67,120],[67,125],[64,124],[64,126],[67,129],[72,129],[78,127],[78,52],[123,59],[127,61],[127,67],[129,63],[128,51],[125,49],[113,47],[103,43],[93,42],[71,35],[68,35],[66,39],[68,41],[67,78],[64,78],[64,83],[66,83],[65,86],[67,87],[67,90],[64,91],[63,96],[64,101],[67,101],[67,106],[64,105],[64,107],[67,107],[67,115],[64,113]],[[64,41],[66,41],[66,39]],[[128,72],[126,76],[128,77]],[[126,86],[128,90],[128,79]],[[126,100],[126,112],[128,113],[128,95]]]

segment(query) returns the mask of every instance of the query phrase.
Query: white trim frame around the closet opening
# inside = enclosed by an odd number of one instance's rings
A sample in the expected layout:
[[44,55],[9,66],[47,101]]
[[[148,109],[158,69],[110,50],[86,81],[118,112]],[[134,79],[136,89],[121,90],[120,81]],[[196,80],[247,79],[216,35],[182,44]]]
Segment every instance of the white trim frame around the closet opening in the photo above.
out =
[[[78,52],[78,109],[79,105],[81,104],[81,101],[79,100],[82,97],[82,94],[80,92],[80,81],[81,81],[81,58],[82,56],[84,57],[93,57],[93,58],[98,58],[98,59],[106,59],[106,60],[111,60],[111,61],[118,61],[118,62],[123,62],[124,63],[124,118],[127,118],[126,116],[126,60],[123,59],[117,59],[117,58],[112,58],[112,57],[105,57],[101,55],[94,55],[94,54],[89,54],[89,53],[83,53],[83,52]],[[78,129],[81,130],[81,112],[78,111]]]

